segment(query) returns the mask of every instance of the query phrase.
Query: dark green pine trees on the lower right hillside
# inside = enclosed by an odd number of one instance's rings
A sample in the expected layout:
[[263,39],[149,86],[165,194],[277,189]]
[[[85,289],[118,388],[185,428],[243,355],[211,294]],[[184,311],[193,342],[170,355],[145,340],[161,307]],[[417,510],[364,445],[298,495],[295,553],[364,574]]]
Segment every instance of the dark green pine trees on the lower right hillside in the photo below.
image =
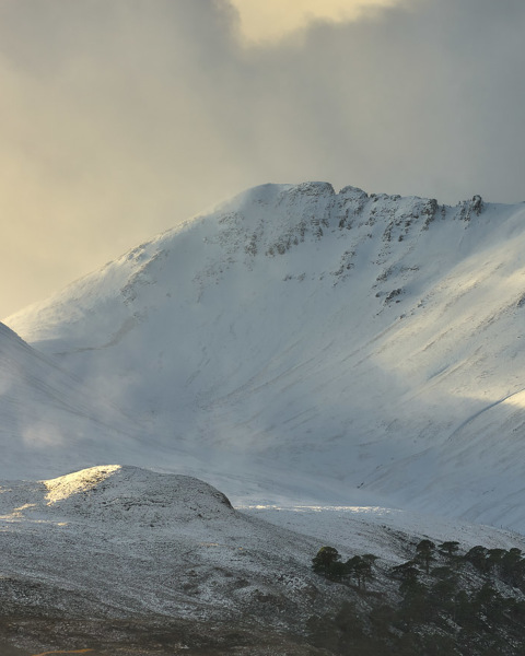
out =
[[[412,560],[382,570],[385,588],[397,587],[383,596],[365,587],[375,560],[366,554],[343,563],[334,548],[313,559],[315,572],[358,593],[336,612],[310,619],[314,646],[341,656],[524,654],[525,559],[518,549],[479,546],[460,554],[458,542],[421,540]],[[366,563],[361,581],[360,563]]]

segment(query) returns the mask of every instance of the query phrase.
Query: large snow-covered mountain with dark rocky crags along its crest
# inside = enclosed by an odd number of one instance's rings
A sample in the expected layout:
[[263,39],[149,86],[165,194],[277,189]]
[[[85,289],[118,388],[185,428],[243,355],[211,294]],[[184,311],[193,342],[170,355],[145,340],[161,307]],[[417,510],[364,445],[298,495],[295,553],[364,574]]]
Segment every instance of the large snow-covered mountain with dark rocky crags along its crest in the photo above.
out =
[[524,529],[524,226],[266,185],[5,321],[140,421],[149,465]]

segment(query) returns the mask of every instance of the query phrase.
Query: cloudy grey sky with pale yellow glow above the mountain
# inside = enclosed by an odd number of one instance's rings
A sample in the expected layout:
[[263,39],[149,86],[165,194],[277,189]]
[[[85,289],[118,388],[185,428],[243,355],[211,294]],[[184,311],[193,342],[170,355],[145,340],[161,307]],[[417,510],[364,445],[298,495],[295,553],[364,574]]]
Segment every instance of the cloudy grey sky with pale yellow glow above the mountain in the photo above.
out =
[[0,316],[267,181],[525,200],[523,0],[0,0]]

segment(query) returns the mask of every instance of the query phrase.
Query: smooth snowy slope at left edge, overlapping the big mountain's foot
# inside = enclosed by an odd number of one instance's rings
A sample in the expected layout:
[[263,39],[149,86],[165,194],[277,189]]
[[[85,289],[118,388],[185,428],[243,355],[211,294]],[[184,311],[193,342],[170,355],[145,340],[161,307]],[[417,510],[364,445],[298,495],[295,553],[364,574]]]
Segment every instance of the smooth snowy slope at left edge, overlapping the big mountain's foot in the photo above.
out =
[[96,452],[133,453],[137,421],[124,415],[0,324],[0,449],[12,478],[93,465]]

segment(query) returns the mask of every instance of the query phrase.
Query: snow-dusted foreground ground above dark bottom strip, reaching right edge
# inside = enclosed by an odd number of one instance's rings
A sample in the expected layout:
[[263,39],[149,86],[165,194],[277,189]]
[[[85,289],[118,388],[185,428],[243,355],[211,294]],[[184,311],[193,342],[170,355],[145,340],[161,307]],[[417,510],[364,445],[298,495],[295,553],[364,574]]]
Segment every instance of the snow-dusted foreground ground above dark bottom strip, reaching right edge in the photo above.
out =
[[0,483],[0,596],[5,614],[23,605],[65,618],[301,630],[348,595],[313,574],[320,546],[375,553],[383,569],[410,558],[421,537],[525,549],[521,536],[491,527],[380,507],[240,511],[198,479],[101,466]]

